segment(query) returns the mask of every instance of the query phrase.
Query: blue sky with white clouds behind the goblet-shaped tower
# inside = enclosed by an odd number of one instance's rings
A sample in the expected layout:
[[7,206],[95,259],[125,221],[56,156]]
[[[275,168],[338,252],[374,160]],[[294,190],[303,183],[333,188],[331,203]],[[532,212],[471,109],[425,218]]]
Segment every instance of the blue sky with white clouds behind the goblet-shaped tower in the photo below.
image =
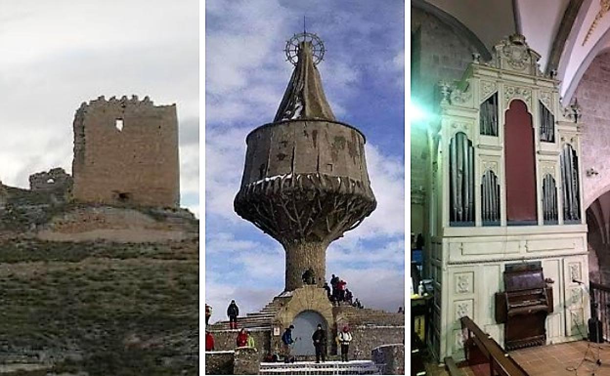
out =
[[366,307],[404,306],[404,2],[206,1],[206,302],[212,322],[231,299],[246,313],[284,288],[279,243],[235,215],[248,132],[273,120],[290,78],[287,38],[325,41],[318,68],[340,121],[367,137],[378,208],[332,243],[338,274]]

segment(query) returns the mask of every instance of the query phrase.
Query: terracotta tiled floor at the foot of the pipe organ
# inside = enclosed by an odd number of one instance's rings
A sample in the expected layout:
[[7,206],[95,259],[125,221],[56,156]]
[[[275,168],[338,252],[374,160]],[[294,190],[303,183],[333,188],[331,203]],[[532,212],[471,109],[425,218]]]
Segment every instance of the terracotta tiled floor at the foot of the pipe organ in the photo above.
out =
[[[511,356],[530,376],[610,376],[610,343],[577,341],[529,347],[513,351]],[[601,365],[596,363],[598,359]],[[481,364],[461,370],[466,376],[487,376],[488,367]],[[443,367],[436,365],[428,365],[426,369],[430,376],[448,375]]]

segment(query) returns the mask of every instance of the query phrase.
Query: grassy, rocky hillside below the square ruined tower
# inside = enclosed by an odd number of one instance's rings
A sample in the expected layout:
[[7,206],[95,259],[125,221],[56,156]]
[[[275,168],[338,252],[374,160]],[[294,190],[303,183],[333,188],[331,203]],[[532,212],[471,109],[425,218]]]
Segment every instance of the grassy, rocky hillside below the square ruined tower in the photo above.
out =
[[0,374],[198,374],[199,221],[0,183]]

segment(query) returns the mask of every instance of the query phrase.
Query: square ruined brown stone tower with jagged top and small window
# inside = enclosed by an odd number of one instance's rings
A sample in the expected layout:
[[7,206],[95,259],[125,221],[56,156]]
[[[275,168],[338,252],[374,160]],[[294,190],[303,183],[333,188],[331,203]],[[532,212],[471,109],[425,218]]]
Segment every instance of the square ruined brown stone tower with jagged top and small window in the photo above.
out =
[[74,117],[72,168],[79,202],[178,206],[176,105],[135,96],[82,104]]

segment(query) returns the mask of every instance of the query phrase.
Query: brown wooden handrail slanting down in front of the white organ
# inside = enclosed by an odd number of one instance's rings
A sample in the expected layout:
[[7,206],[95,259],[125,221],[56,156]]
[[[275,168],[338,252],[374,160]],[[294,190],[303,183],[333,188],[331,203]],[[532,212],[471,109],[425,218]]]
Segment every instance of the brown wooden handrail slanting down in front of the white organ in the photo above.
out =
[[460,322],[462,330],[468,331],[464,349],[469,366],[488,363],[491,376],[529,376],[525,369],[517,364],[492,336],[483,333],[470,317],[464,316]]

